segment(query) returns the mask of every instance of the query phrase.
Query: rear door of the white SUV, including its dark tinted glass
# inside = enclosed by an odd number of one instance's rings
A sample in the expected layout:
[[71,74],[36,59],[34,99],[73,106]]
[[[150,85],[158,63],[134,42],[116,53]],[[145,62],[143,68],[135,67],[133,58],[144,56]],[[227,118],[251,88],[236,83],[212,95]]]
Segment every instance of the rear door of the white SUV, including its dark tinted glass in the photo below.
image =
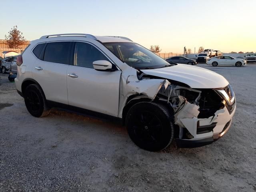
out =
[[56,41],[38,44],[33,53],[38,59],[32,73],[42,87],[46,100],[68,104],[66,73],[70,64],[72,42]]

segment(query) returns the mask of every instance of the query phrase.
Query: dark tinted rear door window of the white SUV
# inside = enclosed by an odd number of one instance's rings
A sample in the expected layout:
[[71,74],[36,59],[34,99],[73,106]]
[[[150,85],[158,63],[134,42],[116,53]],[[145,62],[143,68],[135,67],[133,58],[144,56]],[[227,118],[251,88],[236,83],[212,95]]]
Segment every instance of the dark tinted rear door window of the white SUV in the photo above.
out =
[[44,61],[69,64],[69,46],[70,42],[48,43],[44,51]]

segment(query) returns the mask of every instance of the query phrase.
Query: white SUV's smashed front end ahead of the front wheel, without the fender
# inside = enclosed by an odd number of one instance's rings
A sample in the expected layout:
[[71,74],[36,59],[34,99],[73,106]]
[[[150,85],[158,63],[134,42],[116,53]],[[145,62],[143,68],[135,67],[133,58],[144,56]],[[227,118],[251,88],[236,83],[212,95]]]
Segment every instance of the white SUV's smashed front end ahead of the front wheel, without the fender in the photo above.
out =
[[210,144],[230,128],[236,102],[230,85],[222,89],[192,89],[170,85],[158,92],[174,110],[178,126],[176,143],[180,148]]

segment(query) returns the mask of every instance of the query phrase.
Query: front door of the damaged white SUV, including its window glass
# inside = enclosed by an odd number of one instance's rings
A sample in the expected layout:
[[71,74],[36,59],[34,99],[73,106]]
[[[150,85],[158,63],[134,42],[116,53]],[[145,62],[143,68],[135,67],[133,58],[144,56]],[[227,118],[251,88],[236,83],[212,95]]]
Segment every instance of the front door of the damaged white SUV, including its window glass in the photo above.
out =
[[92,62],[107,60],[100,49],[89,42],[75,42],[73,64],[68,66],[68,104],[118,116],[121,71],[98,71]]

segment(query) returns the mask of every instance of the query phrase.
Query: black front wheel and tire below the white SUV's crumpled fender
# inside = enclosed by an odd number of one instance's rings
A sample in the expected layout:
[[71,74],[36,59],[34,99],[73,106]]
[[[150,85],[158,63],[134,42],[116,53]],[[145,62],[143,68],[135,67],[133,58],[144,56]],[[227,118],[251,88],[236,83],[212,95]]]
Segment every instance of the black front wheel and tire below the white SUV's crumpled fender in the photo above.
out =
[[174,138],[171,112],[162,104],[139,102],[127,113],[126,126],[131,140],[140,148],[160,151]]

